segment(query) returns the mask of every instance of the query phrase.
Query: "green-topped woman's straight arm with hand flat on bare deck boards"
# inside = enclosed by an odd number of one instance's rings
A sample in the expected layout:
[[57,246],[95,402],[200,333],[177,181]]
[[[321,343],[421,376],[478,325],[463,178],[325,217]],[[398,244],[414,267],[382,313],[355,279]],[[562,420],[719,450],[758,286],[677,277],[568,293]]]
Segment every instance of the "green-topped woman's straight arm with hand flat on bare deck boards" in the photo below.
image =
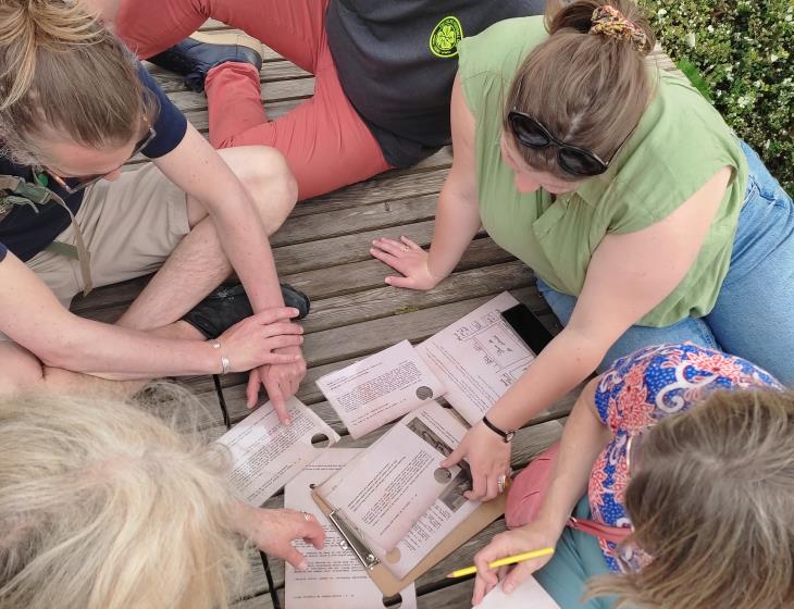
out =
[[459,77],[452,85],[450,122],[455,157],[438,197],[430,252],[405,237],[401,243],[387,238],[372,243],[370,253],[401,274],[386,277],[386,283],[395,287],[435,287],[452,272],[480,229],[474,149],[476,125]]

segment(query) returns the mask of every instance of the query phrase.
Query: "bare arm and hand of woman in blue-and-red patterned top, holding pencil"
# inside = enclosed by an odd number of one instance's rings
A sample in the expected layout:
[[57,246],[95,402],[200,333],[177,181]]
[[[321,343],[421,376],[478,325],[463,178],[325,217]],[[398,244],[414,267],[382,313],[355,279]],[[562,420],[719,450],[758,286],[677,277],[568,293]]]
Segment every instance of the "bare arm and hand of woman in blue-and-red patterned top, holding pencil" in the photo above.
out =
[[[483,596],[498,582],[497,572],[488,568],[489,562],[557,545],[568,518],[587,488],[593,463],[611,439],[611,432],[599,420],[595,409],[594,395],[597,383],[598,378],[595,378],[585,386],[571,410],[537,518],[524,526],[495,535],[474,557],[477,567],[472,597],[474,605],[480,604]],[[505,592],[508,594],[512,592],[550,558],[543,557],[517,564],[503,581]]]

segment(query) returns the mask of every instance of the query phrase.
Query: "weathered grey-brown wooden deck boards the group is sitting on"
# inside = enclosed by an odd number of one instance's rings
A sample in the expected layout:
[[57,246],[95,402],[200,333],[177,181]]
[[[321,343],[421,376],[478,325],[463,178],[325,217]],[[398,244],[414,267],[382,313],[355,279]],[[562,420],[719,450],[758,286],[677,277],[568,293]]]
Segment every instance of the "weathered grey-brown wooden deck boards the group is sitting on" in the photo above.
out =
[[[223,24],[208,22],[206,29]],[[667,67],[670,67],[667,60]],[[163,89],[176,101],[202,133],[207,133],[207,101],[203,95],[188,92],[181,78],[150,66]],[[310,74],[277,57],[265,53],[261,74],[262,98],[270,119],[295,108],[312,95]],[[142,162],[136,159],[131,165]],[[496,246],[485,234],[479,235],[455,273],[429,293],[401,290],[383,283],[387,268],[369,254],[370,241],[377,236],[408,235],[422,246],[430,244],[438,191],[451,163],[450,147],[410,170],[390,171],[336,192],[299,203],[272,245],[283,281],[306,291],[312,300],[305,320],[303,353],[309,372],[298,397],[317,411],[342,436],[338,446],[365,446],[380,434],[359,442],[346,433],[336,413],[314,385],[322,374],[377,351],[401,339],[420,341],[470,312],[496,294],[509,289],[534,311],[554,333],[559,331],[534,285],[532,272]],[[95,290],[78,297],[72,309],[86,316],[113,322],[135,298],[146,278]],[[223,378],[191,377],[183,383],[207,405],[201,424],[211,437],[224,431],[222,405],[231,422],[243,419],[247,375]],[[513,442],[513,468],[523,467],[534,455],[556,440],[561,422],[573,400],[568,396],[551,411],[536,418]],[[268,507],[281,507],[274,497]],[[472,581],[456,581],[444,575],[470,564],[474,552],[495,533],[504,530],[499,520],[444,560],[417,582],[420,608],[469,607]],[[236,609],[284,607],[284,563],[273,557],[261,560],[251,552],[251,575]],[[327,607],[326,609],[336,609]]]

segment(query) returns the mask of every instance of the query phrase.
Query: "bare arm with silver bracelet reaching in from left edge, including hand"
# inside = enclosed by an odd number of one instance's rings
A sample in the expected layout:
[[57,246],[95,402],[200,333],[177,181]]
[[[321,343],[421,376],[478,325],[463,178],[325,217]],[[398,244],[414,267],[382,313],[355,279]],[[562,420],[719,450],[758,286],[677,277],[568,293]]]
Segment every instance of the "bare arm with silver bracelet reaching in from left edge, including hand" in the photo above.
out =
[[[274,348],[300,341],[296,324],[273,323],[295,310],[273,309],[229,328],[221,349],[203,340],[160,338],[116,325],[79,318],[12,253],[0,262],[0,331],[34,353],[45,365],[112,380],[216,374],[221,356],[233,371],[250,370],[293,356]],[[289,311],[293,311],[291,313]],[[293,334],[293,332],[295,332]]]

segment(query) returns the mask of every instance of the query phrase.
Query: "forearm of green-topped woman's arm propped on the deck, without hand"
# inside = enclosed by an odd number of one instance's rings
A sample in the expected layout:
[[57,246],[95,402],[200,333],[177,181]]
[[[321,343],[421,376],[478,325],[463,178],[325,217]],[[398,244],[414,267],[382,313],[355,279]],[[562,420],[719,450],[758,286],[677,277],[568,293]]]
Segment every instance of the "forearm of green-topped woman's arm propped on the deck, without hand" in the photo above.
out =
[[452,272],[480,229],[476,201],[467,200],[448,179],[438,197],[435,231],[427,266],[431,275],[443,279]]

